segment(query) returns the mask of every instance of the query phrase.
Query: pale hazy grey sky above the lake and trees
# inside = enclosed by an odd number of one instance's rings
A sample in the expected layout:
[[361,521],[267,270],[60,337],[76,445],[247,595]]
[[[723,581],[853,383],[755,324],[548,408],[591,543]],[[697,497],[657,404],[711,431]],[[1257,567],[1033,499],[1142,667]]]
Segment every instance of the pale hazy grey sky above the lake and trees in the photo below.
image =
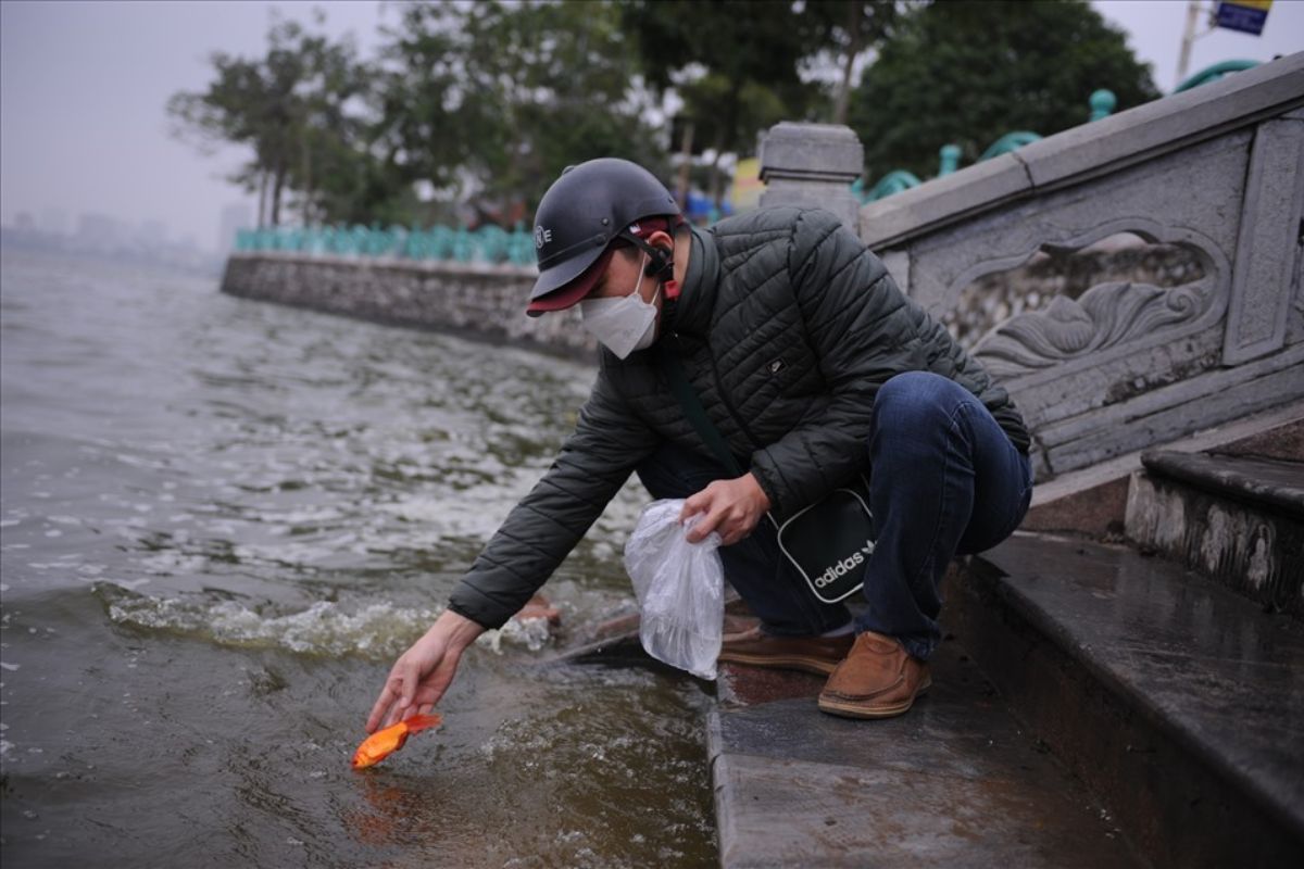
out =
[[[1131,38],[1163,91],[1176,83],[1187,0],[1093,0]],[[244,159],[205,156],[168,135],[163,107],[179,90],[202,90],[213,51],[258,56],[273,8],[306,21],[326,13],[333,34],[353,33],[364,53],[385,3],[0,1],[0,219],[29,211],[38,223],[83,211],[132,223],[162,220],[170,237],[218,244],[224,206],[253,197],[222,177]],[[1191,72],[1231,59],[1269,60],[1304,50],[1304,0],[1275,0],[1262,36],[1218,30],[1194,44]],[[1085,100],[1086,95],[1084,95]]]

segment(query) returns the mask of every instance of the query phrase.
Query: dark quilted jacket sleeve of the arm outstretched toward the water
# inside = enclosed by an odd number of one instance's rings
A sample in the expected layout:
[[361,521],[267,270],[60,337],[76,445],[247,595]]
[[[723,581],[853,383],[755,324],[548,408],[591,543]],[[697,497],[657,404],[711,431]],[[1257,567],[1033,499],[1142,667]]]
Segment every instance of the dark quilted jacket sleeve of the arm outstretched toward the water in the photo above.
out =
[[502,627],[548,581],[656,444],[657,435],[599,374],[574,434],[454,588],[449,608],[481,627]]

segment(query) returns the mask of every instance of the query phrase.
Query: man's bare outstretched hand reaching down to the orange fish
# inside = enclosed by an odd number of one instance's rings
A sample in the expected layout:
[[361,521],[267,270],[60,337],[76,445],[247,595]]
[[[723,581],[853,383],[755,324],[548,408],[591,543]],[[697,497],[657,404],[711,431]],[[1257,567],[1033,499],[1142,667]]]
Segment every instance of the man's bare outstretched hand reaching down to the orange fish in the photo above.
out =
[[479,624],[446,610],[390,668],[381,696],[366,718],[366,732],[416,714],[429,714],[458,672],[467,646],[484,633]]

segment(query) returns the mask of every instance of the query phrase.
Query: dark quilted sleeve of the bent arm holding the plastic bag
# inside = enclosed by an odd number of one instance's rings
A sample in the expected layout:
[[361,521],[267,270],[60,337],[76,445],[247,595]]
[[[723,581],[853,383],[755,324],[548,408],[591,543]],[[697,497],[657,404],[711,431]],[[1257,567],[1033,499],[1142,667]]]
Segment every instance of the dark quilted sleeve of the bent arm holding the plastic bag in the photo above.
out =
[[778,515],[819,500],[865,468],[874,397],[889,378],[923,370],[975,393],[988,386],[981,366],[833,215],[801,214],[788,271],[829,395],[818,413],[752,455],[752,472]]

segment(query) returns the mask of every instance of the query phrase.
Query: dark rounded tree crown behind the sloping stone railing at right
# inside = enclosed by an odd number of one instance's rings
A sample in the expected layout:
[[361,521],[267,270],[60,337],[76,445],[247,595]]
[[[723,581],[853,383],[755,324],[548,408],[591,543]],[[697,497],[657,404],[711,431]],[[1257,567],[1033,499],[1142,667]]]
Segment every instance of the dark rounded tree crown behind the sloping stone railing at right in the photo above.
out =
[[936,173],[943,145],[975,160],[1012,130],[1050,135],[1088,120],[1106,87],[1119,109],[1158,96],[1148,64],[1085,0],[940,0],[883,46],[850,107],[872,180]]

